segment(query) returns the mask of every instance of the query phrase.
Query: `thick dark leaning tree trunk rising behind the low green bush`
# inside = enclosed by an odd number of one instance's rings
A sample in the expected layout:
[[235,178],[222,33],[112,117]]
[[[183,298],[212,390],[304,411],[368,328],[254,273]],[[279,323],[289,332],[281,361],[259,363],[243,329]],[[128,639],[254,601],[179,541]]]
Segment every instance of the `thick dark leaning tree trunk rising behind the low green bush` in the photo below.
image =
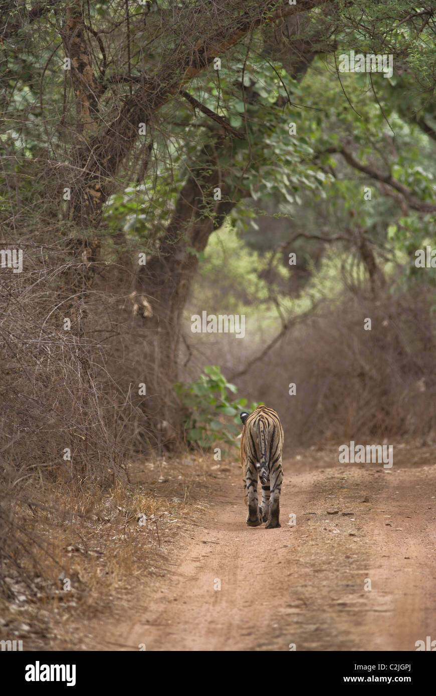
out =
[[[171,397],[178,379],[181,318],[198,268],[198,253],[205,249],[212,232],[221,227],[237,202],[214,200],[213,189],[220,185],[219,173],[215,165],[212,171],[197,169],[187,179],[159,245],[159,255],[141,266],[137,276],[137,292],[146,297],[153,313],[144,319],[151,351],[149,361],[156,379],[155,396],[148,400],[148,409],[153,416],[169,422],[174,422]],[[225,194],[221,183],[221,195]]]

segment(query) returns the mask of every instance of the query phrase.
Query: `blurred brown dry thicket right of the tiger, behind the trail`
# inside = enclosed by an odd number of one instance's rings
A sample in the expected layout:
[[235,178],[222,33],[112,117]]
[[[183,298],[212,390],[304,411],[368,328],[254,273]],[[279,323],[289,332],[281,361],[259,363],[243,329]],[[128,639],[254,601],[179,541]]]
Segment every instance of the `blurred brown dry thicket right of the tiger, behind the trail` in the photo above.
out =
[[[324,307],[236,380],[239,394],[277,409],[288,448],[329,440],[432,438],[434,299],[429,288],[421,288]],[[371,331],[364,330],[367,317]],[[296,395],[289,395],[290,383]]]

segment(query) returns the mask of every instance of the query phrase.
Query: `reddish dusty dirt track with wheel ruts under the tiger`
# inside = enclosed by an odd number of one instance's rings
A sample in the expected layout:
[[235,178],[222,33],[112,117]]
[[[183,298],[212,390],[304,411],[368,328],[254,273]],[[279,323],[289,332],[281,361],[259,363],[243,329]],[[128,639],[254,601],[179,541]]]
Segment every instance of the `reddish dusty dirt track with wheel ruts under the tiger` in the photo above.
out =
[[175,571],[118,627],[125,649],[414,651],[436,640],[436,465],[293,460],[284,471],[274,530],[245,525],[240,470],[221,474]]

